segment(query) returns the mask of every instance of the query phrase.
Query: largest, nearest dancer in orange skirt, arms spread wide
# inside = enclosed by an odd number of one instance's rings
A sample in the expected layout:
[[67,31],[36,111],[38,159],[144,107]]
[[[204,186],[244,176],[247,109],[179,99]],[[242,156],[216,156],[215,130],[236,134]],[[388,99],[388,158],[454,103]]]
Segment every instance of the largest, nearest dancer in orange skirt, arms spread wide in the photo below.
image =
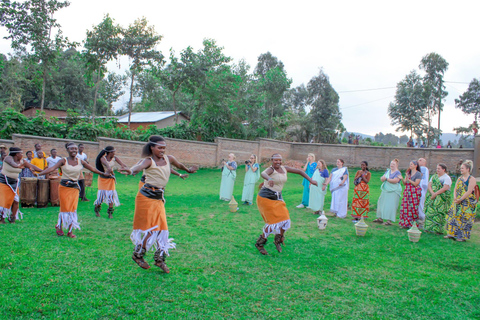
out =
[[144,260],[145,253],[155,248],[155,265],[169,273],[165,264],[165,257],[169,249],[175,248],[173,239],[169,239],[167,217],[165,214],[165,186],[170,178],[171,167],[195,173],[197,167],[187,168],[178,162],[174,156],[166,155],[167,143],[163,137],[151,136],[143,147],[142,157],[145,159],[133,166],[130,170],[121,170],[136,175],[142,170],[145,173],[145,184],[138,191],[135,198],[135,215],[133,231],[130,239],[135,245],[132,259],[143,269],[150,268]]

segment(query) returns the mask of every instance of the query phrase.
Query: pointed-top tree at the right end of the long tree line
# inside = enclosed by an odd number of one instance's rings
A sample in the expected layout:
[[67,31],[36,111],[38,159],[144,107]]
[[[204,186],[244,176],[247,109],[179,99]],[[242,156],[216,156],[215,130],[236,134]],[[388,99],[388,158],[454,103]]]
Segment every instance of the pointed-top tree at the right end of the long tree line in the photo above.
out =
[[317,142],[337,143],[338,133],[345,129],[338,105],[340,98],[323,70],[308,82],[307,90]]

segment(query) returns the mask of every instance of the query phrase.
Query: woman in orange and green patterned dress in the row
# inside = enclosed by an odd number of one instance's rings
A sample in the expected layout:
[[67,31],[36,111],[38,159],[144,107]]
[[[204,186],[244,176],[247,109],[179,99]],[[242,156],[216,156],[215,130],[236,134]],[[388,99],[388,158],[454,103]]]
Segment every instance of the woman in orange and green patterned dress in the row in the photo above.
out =
[[359,221],[362,216],[368,218],[368,210],[370,206],[370,188],[368,183],[370,182],[372,174],[370,173],[370,170],[368,170],[367,161],[362,161],[360,167],[362,170],[357,171],[353,181],[355,184],[355,189],[353,190],[355,194],[353,195],[352,202],[353,222]]

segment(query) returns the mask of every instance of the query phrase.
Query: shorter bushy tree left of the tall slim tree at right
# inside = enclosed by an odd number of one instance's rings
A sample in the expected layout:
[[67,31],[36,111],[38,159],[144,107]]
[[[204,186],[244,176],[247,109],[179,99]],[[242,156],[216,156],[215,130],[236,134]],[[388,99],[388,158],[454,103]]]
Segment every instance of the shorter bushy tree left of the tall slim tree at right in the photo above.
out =
[[392,125],[398,126],[396,131],[421,131],[423,114],[426,109],[422,78],[412,70],[404,80],[397,84],[395,102],[388,107],[388,115]]

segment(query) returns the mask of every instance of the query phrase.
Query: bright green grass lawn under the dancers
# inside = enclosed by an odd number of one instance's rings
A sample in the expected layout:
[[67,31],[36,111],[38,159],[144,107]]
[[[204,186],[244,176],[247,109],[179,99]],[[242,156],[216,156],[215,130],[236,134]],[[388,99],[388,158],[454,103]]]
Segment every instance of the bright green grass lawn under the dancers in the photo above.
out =
[[[172,176],[166,209],[177,249],[167,259],[170,274],[153,266],[153,252],[149,270],[131,259],[139,176],[118,175],[122,206],[112,220],[106,206],[95,217],[96,188],[88,190],[92,202],[79,205],[77,239],[55,235],[58,208],[23,209],[24,220],[0,225],[0,318],[480,318],[480,225],[466,243],[423,233],[414,244],[397,225],[372,223],[375,213],[365,237],[355,235],[349,217],[331,218],[319,231],[317,216],[295,208],[301,177],[290,174],[286,247],[279,254],[271,237],[270,255],[262,256],[254,247],[263,227],[256,206],[230,213],[218,199],[220,175]],[[381,175],[372,175],[372,207]]]

